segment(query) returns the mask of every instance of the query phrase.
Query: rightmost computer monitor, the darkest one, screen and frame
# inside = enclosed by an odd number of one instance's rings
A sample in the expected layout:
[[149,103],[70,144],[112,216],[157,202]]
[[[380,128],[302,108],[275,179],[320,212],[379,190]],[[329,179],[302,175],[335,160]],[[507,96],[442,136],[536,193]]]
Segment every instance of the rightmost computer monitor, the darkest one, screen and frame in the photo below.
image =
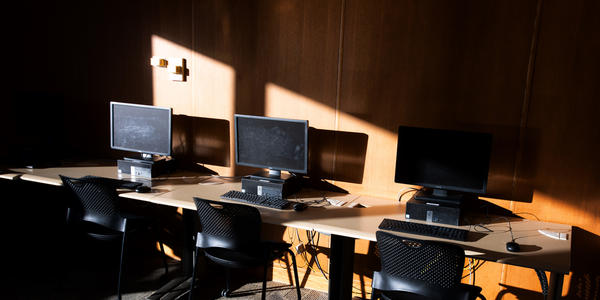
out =
[[400,126],[395,182],[485,193],[491,144],[487,133]]

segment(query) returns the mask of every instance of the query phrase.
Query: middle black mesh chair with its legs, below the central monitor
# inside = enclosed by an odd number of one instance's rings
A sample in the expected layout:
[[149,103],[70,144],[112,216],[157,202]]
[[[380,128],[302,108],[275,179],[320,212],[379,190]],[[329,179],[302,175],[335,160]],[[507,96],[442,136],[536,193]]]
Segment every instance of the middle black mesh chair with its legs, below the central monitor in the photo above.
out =
[[202,250],[208,259],[226,269],[227,285],[221,292],[224,297],[230,295],[229,269],[263,266],[262,299],[265,299],[269,262],[289,253],[294,267],[296,291],[298,299],[300,299],[298,269],[294,253],[289,249],[291,245],[281,242],[261,241],[261,218],[256,208],[199,198],[194,198],[194,202],[196,203],[202,228],[196,239],[196,255],[189,299],[193,298],[196,268]]

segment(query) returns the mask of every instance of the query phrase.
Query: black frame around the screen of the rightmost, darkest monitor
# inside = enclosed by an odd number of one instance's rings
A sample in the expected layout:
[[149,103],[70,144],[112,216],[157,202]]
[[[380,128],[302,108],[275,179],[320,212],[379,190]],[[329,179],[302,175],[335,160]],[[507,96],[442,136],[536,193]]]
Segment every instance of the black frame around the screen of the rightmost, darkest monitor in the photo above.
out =
[[[461,186],[438,185],[438,184],[431,184],[431,183],[427,183],[427,182],[418,182],[418,181],[410,181],[410,180],[400,181],[400,179],[398,178],[398,156],[400,153],[400,130],[402,130],[402,128],[487,135],[489,137],[488,141],[487,141],[488,142],[487,146],[488,146],[489,151],[486,153],[488,160],[487,160],[487,165],[486,165],[486,176],[485,176],[485,179],[482,181],[482,187],[479,189],[471,189],[471,188],[465,188],[465,187],[461,187]],[[479,195],[485,194],[487,192],[487,184],[488,184],[489,173],[490,173],[490,163],[491,163],[491,156],[492,156],[492,141],[493,141],[493,135],[490,133],[486,133],[486,132],[462,131],[462,130],[451,130],[451,129],[440,129],[440,128],[425,128],[425,127],[413,127],[413,126],[399,126],[398,127],[398,138],[396,139],[397,145],[396,145],[396,164],[395,164],[395,169],[394,169],[394,182],[401,183],[401,184],[408,184],[408,185],[418,185],[418,186],[422,186],[425,188],[431,188],[431,189],[437,189],[437,190],[472,193],[472,194],[479,194]]]

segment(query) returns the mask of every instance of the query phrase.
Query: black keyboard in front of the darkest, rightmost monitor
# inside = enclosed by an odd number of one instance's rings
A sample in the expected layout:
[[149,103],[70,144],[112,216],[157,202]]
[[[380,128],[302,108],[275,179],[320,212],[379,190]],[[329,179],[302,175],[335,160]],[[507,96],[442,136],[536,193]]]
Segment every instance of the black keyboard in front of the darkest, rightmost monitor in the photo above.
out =
[[379,224],[379,229],[404,232],[410,234],[426,235],[437,238],[466,241],[468,230],[436,226],[423,223],[413,223],[400,220],[383,219]]

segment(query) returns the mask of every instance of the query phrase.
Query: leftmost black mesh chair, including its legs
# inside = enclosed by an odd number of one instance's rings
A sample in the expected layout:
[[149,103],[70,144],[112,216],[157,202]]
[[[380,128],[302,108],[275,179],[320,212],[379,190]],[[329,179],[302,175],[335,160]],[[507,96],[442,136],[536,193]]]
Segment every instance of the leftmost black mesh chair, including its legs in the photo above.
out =
[[[73,192],[78,203],[70,203],[67,208],[68,223],[82,223],[86,233],[99,240],[121,240],[121,258],[119,262],[119,277],[117,297],[121,299],[121,277],[123,271],[125,241],[129,233],[141,228],[152,226],[158,237],[155,222],[152,218],[134,215],[120,209],[117,188],[114,180],[101,177],[86,176],[70,178],[60,175],[63,185]],[[169,272],[167,260],[160,239],[160,250],[163,254],[165,275]]]

